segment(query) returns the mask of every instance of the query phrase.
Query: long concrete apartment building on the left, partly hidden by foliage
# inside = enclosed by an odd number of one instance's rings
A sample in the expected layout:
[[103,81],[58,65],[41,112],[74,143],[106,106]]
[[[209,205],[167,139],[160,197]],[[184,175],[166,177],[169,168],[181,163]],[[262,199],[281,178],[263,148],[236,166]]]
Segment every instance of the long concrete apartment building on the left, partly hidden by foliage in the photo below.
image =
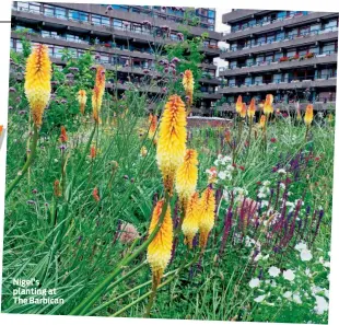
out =
[[[68,48],[75,57],[86,49],[94,48],[96,62],[106,69],[117,70],[118,91],[127,89],[126,83],[139,83],[144,74],[154,71],[155,59],[162,55],[162,45],[180,42],[180,26],[186,8],[107,5],[90,3],[43,3],[20,2],[12,4],[11,49],[22,51],[20,31],[25,30],[25,37],[32,43],[47,44],[52,61],[62,66],[62,50]],[[196,108],[208,111],[217,100],[220,80],[215,77],[217,66],[213,58],[220,56],[218,42],[222,34],[214,32],[215,10],[195,9],[199,24],[189,26],[192,36],[208,32],[209,38],[201,47],[204,54],[203,77],[198,81],[201,95]],[[156,77],[160,79],[160,76]],[[163,92],[165,84],[147,88],[150,96]],[[107,82],[107,88],[113,83]]]

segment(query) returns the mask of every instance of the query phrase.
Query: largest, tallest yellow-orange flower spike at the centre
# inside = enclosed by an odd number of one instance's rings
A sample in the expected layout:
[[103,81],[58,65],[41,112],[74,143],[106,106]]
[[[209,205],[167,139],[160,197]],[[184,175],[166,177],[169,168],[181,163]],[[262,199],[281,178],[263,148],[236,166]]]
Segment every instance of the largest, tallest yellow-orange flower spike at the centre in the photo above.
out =
[[186,152],[186,124],[185,104],[178,95],[172,95],[160,121],[156,147],[156,162],[171,194],[176,170],[184,162]]

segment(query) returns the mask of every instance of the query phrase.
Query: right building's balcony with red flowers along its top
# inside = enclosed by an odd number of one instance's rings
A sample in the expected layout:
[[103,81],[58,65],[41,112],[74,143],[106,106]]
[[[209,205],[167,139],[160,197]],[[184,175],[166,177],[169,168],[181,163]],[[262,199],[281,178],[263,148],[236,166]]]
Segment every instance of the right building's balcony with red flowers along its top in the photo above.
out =
[[243,67],[235,67],[232,69],[227,68],[220,68],[219,74],[220,77],[231,77],[231,76],[241,76],[241,74],[248,74],[255,72],[267,72],[267,71],[280,71],[280,70],[288,70],[293,68],[302,68],[307,66],[316,66],[316,65],[326,65],[326,63],[337,63],[338,55],[335,51],[328,51],[322,55],[315,55],[313,58],[309,59],[295,59],[295,60],[288,60],[288,61],[266,61],[254,65],[246,65]]

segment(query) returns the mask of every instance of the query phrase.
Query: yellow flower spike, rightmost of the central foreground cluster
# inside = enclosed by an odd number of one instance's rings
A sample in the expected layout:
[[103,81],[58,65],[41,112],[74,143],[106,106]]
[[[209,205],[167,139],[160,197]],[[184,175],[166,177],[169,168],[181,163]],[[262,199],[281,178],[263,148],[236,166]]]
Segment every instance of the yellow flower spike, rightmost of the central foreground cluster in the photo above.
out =
[[202,249],[204,249],[209,233],[214,227],[214,190],[211,187],[208,187],[202,193],[200,199],[199,243]]

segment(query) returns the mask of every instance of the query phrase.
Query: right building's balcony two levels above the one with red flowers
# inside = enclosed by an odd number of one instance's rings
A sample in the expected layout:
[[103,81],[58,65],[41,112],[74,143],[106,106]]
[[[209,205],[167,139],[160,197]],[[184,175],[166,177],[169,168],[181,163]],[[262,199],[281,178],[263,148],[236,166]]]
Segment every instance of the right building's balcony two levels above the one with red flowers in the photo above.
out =
[[259,25],[248,26],[244,30],[239,30],[234,33],[224,33],[223,40],[235,40],[238,38],[249,37],[254,34],[262,34],[272,31],[279,31],[285,26],[297,26],[302,24],[307,24],[309,22],[316,22],[318,19],[327,19],[331,16],[338,16],[338,13],[332,12],[308,12],[308,14],[299,14],[294,16],[288,16],[282,19],[277,19],[273,21],[260,23]]

